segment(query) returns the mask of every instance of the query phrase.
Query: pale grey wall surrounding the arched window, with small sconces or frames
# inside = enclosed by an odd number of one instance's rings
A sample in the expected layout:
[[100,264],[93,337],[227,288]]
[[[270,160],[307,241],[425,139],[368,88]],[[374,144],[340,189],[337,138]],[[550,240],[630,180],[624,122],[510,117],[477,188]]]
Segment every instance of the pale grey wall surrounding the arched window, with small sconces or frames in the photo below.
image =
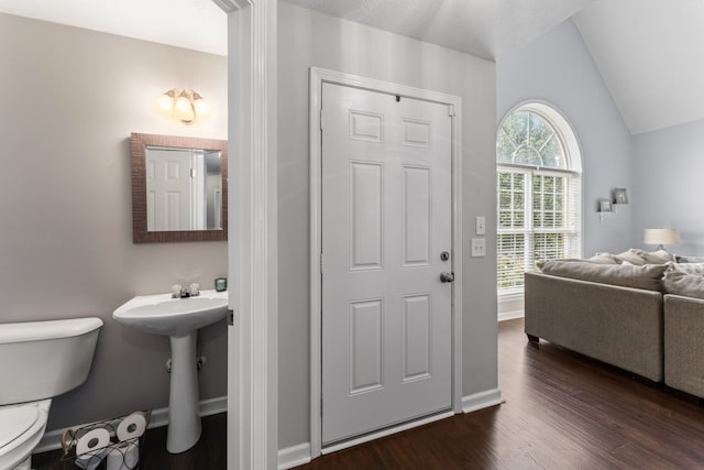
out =
[[631,245],[635,204],[600,221],[597,200],[615,187],[634,190],[630,134],[582,36],[568,20],[496,64],[497,114],[528,100],[547,101],[576,132],[582,150],[583,254],[620,252]]

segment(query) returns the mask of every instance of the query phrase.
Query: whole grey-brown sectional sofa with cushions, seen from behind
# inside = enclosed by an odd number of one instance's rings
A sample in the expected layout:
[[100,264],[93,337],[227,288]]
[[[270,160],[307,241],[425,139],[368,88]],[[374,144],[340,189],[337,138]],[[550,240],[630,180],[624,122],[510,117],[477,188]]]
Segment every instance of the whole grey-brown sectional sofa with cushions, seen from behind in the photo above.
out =
[[526,273],[529,340],[704,397],[704,264],[598,264],[548,262]]

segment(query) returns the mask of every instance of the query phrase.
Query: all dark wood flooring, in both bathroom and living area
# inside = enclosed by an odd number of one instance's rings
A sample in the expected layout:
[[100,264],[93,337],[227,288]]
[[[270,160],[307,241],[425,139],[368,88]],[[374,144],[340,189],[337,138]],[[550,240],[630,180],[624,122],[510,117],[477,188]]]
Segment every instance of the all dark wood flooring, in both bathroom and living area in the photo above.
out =
[[[298,470],[704,469],[704,407],[691,397],[549,342],[529,345],[522,320],[499,325],[506,403],[356,446]],[[170,456],[151,429],[142,469],[226,468],[226,418],[204,419],[196,448]],[[55,453],[55,452],[54,452]],[[56,453],[34,468],[73,469]],[[255,469],[258,470],[258,469]]]

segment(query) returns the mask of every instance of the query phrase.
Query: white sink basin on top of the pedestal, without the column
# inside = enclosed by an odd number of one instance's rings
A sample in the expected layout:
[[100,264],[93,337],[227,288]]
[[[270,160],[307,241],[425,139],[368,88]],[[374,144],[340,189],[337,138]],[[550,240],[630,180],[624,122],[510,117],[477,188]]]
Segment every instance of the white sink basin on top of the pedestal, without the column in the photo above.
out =
[[224,318],[227,311],[227,291],[201,291],[199,296],[188,298],[139,295],[114,310],[112,317],[142,332],[182,337]]

